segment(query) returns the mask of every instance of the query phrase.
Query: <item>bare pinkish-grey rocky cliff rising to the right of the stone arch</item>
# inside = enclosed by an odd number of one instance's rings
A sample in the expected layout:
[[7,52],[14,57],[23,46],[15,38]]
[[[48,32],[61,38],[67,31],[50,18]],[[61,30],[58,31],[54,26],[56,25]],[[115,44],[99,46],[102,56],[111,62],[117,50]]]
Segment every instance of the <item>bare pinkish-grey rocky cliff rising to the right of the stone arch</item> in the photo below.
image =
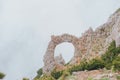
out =
[[113,40],[117,47],[120,46],[120,11],[95,31],[90,28],[79,38],[79,49],[84,54],[82,58],[91,59],[104,54]]

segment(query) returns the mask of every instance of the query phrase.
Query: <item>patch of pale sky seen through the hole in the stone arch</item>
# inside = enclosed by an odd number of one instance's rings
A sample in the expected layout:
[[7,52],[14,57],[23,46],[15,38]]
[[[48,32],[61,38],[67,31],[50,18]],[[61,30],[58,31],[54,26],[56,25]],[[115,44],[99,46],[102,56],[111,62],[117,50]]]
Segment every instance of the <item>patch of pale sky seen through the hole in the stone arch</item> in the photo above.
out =
[[68,63],[74,56],[74,46],[72,43],[61,43],[56,46],[54,57],[62,55],[65,64]]

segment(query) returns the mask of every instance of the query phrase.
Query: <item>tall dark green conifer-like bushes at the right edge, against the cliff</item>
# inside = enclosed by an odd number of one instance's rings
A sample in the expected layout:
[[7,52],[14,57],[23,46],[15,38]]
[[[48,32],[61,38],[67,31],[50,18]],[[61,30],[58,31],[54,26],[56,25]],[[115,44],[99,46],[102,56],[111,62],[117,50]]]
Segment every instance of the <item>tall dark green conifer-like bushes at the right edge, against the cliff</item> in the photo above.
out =
[[101,59],[104,61],[106,69],[111,69],[112,66],[114,66],[116,70],[120,70],[120,57],[118,56],[119,54],[120,47],[116,48],[115,41],[113,41],[106,53],[101,56]]

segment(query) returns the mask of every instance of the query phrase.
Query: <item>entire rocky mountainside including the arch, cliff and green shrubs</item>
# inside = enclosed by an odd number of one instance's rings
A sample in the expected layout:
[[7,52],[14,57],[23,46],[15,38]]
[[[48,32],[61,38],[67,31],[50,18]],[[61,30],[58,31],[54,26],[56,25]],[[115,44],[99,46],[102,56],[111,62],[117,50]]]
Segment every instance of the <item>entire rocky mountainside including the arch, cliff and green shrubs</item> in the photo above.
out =
[[[74,56],[65,64],[54,57],[57,45],[73,44]],[[120,8],[96,30],[89,28],[81,37],[52,35],[44,55],[44,67],[34,80],[120,80]]]

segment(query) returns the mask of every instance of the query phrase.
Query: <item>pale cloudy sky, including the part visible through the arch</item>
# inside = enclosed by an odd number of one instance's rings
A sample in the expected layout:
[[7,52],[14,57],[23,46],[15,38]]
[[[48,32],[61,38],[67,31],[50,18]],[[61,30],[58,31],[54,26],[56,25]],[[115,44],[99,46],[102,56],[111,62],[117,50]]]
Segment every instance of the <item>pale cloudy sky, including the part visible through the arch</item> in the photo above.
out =
[[[4,80],[34,78],[43,66],[43,55],[51,35],[69,33],[77,37],[102,25],[120,8],[120,0],[0,0],[0,72]],[[55,49],[55,56],[69,61],[70,43]]]

